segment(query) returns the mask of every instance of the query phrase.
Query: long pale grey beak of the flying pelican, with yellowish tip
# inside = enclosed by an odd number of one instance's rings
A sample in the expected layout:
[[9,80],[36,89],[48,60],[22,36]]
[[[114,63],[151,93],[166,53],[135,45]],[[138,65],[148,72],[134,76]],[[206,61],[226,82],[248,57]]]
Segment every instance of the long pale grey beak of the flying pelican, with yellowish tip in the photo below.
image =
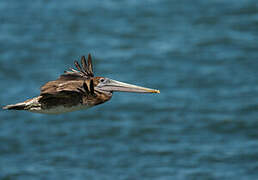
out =
[[101,87],[105,91],[135,92],[135,93],[160,93],[159,90],[149,89],[141,86],[127,84],[109,79],[109,81]]

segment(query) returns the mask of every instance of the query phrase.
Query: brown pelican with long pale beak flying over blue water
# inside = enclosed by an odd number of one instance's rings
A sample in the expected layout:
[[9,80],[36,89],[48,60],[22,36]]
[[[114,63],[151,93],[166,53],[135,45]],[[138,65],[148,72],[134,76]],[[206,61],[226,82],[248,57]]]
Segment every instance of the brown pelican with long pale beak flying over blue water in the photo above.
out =
[[86,109],[111,99],[113,92],[160,93],[159,90],[94,77],[91,55],[88,63],[84,56],[81,65],[74,61],[77,70],[70,68],[57,80],[47,82],[40,95],[24,102],[3,107],[9,110],[26,110],[35,113],[60,114]]

